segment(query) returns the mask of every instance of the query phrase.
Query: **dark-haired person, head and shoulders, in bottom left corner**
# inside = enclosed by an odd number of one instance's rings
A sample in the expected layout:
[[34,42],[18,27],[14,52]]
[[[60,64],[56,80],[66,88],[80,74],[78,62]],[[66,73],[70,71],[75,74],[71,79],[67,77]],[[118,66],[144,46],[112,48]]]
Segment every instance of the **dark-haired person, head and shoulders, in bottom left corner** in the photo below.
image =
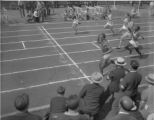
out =
[[28,111],[29,96],[26,93],[17,96],[14,105],[20,113],[10,116],[6,120],[42,120],[40,116],[31,114]]

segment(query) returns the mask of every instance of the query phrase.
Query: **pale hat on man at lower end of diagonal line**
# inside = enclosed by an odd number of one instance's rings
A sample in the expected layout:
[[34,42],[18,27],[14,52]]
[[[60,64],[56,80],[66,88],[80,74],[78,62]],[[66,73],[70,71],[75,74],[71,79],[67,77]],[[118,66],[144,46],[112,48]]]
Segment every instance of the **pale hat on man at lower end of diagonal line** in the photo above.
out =
[[103,81],[103,76],[99,72],[94,72],[91,75],[91,80],[92,80],[92,83],[101,83]]

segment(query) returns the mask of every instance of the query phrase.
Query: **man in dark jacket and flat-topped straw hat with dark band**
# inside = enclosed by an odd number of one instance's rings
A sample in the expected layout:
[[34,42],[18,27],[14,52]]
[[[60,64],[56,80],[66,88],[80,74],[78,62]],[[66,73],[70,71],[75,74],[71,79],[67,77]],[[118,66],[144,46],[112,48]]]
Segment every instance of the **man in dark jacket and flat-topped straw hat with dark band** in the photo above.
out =
[[111,94],[119,91],[120,80],[122,80],[129,72],[129,70],[124,67],[126,64],[125,59],[122,57],[118,57],[115,60],[115,69],[113,69],[107,76],[107,79],[111,81],[108,87]]

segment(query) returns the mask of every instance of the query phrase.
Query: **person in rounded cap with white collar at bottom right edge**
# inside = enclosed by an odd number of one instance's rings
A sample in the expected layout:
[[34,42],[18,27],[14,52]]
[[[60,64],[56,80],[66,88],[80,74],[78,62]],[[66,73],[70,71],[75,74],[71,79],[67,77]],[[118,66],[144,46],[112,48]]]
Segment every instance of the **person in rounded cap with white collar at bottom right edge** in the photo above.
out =
[[120,100],[120,110],[119,113],[108,120],[137,120],[129,112],[135,108],[135,105],[130,97],[123,96]]

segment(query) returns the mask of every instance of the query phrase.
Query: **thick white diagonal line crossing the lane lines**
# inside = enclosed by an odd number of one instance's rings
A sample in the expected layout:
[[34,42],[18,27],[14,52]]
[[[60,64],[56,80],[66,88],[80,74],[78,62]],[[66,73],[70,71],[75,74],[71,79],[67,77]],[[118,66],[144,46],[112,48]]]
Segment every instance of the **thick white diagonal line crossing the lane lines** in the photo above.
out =
[[[76,68],[78,68],[79,72],[82,73],[84,77],[87,77],[87,75],[83,72],[83,70],[77,65],[77,63],[69,56],[69,54],[60,46],[60,44],[53,38],[50,33],[42,26],[42,29],[46,32],[46,34],[54,41],[54,43],[63,51],[63,53],[69,58],[69,60],[73,63]],[[91,80],[87,77],[87,80],[91,82]]]

